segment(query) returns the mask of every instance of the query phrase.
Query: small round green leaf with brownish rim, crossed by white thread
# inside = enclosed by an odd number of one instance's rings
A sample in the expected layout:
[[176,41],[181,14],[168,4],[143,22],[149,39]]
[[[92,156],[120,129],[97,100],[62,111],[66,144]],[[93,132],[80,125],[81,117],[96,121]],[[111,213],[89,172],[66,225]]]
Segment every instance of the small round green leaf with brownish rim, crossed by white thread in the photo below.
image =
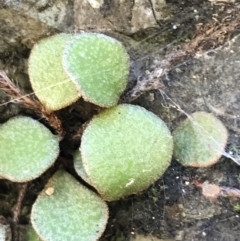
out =
[[174,157],[184,166],[206,167],[224,152],[228,132],[215,116],[195,112],[173,132]]

